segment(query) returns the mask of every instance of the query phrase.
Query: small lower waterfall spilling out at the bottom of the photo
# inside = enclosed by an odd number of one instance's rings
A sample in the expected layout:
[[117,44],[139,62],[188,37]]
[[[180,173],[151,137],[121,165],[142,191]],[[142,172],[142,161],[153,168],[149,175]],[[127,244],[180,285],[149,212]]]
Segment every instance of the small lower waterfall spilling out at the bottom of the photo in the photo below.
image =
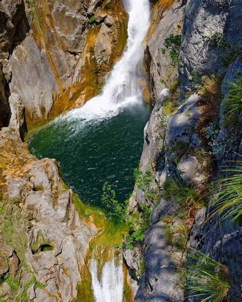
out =
[[118,264],[115,259],[105,263],[102,269],[102,276],[98,278],[98,263],[91,259],[92,290],[96,302],[122,302],[123,301],[123,262],[122,255],[119,254]]

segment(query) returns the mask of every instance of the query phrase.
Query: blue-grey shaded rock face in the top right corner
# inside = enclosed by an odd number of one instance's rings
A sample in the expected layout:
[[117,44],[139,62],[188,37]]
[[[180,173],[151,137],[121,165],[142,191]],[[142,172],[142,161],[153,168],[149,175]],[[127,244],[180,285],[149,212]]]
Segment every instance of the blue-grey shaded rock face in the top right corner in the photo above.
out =
[[189,89],[196,75],[225,73],[241,53],[241,13],[239,0],[187,1],[179,60],[182,89]]

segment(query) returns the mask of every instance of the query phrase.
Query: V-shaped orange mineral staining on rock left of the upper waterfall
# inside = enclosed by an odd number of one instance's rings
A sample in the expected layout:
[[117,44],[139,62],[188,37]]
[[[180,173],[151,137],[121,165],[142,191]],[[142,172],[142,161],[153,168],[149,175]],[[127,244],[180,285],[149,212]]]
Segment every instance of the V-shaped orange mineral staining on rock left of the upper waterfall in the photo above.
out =
[[53,119],[68,109],[82,106],[100,93],[104,76],[120,58],[126,45],[128,21],[121,0],[104,3],[99,8],[104,17],[101,16],[98,23],[90,26],[84,21],[82,24],[82,36],[86,37],[83,46],[79,45],[80,50],[72,54],[67,42],[57,32],[56,22],[61,15],[53,18],[53,3],[41,0],[30,5],[30,8],[33,37],[49,61],[56,84],[52,91],[51,110],[46,111],[45,107],[40,106],[35,113],[35,110],[26,108],[29,128],[43,120]]

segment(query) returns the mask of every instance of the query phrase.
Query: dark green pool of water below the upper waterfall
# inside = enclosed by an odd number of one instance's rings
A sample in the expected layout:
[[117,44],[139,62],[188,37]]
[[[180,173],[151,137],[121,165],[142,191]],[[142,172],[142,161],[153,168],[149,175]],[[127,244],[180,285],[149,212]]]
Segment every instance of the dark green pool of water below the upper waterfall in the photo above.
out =
[[101,206],[106,181],[123,202],[134,187],[150,113],[140,100],[101,121],[58,118],[30,135],[30,151],[37,158],[57,159],[64,182],[83,202]]

